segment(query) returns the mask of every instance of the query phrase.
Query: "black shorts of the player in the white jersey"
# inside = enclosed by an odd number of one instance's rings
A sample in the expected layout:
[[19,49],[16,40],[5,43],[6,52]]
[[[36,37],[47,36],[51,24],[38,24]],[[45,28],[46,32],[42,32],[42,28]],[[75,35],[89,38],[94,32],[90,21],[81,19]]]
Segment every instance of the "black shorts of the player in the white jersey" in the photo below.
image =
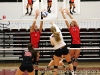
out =
[[63,48],[59,48],[55,50],[54,55],[61,57],[61,55],[67,55],[69,53],[69,50],[67,49],[67,46],[65,45]]

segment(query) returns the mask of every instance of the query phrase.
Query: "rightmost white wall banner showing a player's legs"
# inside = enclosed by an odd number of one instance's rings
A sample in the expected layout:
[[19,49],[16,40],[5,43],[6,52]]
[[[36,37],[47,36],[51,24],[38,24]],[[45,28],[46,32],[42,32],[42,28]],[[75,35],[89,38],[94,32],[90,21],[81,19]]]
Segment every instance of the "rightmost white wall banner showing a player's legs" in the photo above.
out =
[[63,0],[63,8],[67,8],[71,14],[80,14],[80,0]]

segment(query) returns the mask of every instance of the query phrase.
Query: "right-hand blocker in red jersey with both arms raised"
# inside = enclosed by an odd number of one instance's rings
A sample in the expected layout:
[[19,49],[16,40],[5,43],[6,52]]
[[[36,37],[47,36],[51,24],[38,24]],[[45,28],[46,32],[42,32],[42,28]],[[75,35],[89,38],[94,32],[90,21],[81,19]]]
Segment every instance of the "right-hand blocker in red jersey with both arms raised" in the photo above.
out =
[[[68,12],[67,9],[65,9],[66,14],[73,19],[72,15]],[[60,8],[60,12],[62,13],[62,16],[64,19],[66,19],[65,15],[64,15],[64,10],[62,8]],[[71,46],[70,48],[80,48],[81,47],[81,40],[80,40],[80,29],[78,26],[78,23],[75,20],[72,20],[71,23],[68,22],[68,20],[65,20],[66,26],[69,29],[71,38],[72,38],[72,42],[71,42]],[[74,71],[76,72],[76,67],[78,64],[78,57],[80,55],[80,49],[70,49],[70,56],[71,59],[73,60],[73,67],[74,67]]]

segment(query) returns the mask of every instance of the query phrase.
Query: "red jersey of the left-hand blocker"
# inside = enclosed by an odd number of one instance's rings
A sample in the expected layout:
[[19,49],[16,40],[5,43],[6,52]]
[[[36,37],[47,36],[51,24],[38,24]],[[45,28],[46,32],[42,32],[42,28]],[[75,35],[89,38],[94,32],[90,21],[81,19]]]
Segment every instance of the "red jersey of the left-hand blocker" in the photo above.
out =
[[40,41],[40,31],[30,32],[31,44],[33,48],[38,48],[38,43]]

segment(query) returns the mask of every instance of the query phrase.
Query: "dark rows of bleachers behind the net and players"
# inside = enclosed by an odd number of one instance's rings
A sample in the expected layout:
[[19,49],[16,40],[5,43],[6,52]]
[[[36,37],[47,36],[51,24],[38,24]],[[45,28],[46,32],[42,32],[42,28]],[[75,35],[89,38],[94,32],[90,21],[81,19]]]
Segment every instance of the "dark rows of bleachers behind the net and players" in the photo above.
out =
[[[71,36],[67,28],[61,29],[64,41],[67,46],[71,45]],[[50,28],[45,28],[40,37],[39,48],[40,60],[49,60],[52,58],[53,50],[45,49],[52,48],[49,37],[51,35]],[[81,28],[81,48],[100,48],[100,28]],[[26,48],[27,43],[30,42],[29,29],[4,29],[0,30],[0,49],[11,49],[11,50],[0,50],[0,60],[21,60],[22,49]],[[16,50],[13,50],[16,48]],[[18,50],[17,50],[18,48]],[[21,49],[21,50],[20,50]],[[99,49],[81,49],[79,59],[100,59]],[[97,59],[97,60],[98,60]]]

